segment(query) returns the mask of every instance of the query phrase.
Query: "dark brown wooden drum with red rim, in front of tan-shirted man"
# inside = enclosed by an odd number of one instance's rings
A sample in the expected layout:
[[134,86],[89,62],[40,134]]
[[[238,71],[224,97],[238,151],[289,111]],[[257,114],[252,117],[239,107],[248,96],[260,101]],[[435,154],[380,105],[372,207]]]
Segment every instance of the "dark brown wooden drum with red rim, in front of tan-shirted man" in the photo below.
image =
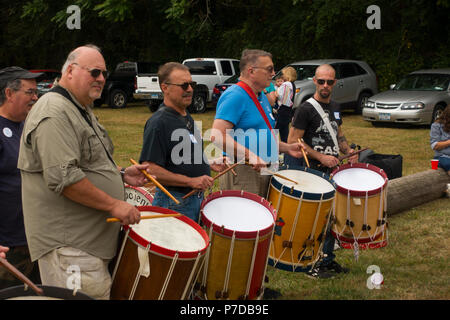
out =
[[[138,209],[145,215],[177,213],[152,206]],[[142,219],[124,230],[111,299],[188,298],[209,246],[206,232],[186,216]]]

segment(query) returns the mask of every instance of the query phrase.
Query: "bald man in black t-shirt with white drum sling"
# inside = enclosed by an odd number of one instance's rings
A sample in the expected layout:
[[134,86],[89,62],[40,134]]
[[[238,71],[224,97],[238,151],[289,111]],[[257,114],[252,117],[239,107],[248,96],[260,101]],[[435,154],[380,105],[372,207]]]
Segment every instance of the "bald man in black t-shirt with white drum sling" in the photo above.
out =
[[[316,86],[314,96],[302,103],[294,113],[289,130],[288,143],[303,139],[308,151],[310,167],[327,174],[339,164],[339,152],[354,152],[349,147],[342,131],[342,117],[339,104],[331,100],[331,92],[336,84],[336,73],[332,66],[323,64],[317,67],[313,78]],[[328,118],[328,121],[326,120]],[[327,123],[328,122],[328,123]],[[285,164],[289,169],[305,167],[303,159],[285,155]],[[351,163],[358,162],[358,155],[349,158]],[[330,224],[331,226],[331,224]],[[335,239],[330,230],[323,245],[325,257],[307,274],[314,278],[331,278],[336,273],[347,273],[348,269],[334,261]]]

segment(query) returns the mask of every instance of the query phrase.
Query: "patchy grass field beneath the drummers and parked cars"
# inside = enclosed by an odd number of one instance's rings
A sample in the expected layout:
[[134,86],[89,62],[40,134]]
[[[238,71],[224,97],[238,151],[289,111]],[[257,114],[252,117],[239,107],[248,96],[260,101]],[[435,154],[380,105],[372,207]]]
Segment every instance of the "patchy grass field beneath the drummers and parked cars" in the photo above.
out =
[[[147,107],[133,104],[124,110],[97,108],[95,114],[108,130],[114,145],[114,159],[128,166],[129,158],[139,159],[142,134],[151,116]],[[194,114],[203,131],[211,128],[214,109]],[[373,127],[361,116],[344,113],[343,131],[349,143],[376,153],[401,154],[403,175],[430,168],[433,152],[429,127]],[[268,267],[268,288],[281,292],[281,299],[450,299],[450,199],[441,198],[388,217],[388,246],[360,251],[336,251],[336,261],[350,272],[330,280],[313,280],[302,273]],[[368,289],[367,273],[377,265],[384,276],[381,289]]]

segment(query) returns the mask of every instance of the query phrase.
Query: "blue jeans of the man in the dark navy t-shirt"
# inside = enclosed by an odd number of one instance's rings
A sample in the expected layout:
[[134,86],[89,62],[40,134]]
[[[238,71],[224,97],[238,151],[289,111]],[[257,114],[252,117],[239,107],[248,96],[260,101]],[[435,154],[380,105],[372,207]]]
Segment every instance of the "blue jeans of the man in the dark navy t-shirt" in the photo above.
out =
[[171,198],[169,198],[160,189],[156,189],[155,197],[153,198],[152,205],[155,207],[167,208],[178,213],[184,214],[186,217],[191,218],[196,223],[200,216],[200,205],[203,201],[203,192],[193,194],[189,198],[182,199],[184,193],[177,191],[169,191],[171,195],[177,199],[180,204],[176,204]]

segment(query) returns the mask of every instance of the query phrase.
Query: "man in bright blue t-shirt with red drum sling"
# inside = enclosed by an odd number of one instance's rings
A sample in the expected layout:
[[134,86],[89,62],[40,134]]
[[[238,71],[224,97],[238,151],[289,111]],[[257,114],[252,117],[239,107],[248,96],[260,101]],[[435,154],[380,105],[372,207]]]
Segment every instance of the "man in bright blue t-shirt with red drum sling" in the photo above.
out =
[[270,176],[259,171],[278,163],[279,152],[301,157],[302,144],[280,142],[277,132],[271,130],[275,119],[262,91],[275,75],[272,55],[246,49],[242,52],[239,67],[241,82],[228,88],[217,102],[211,137],[228,157],[237,161],[245,159],[254,170],[239,165],[236,176],[223,175],[219,181],[224,190],[244,190],[265,197]]

